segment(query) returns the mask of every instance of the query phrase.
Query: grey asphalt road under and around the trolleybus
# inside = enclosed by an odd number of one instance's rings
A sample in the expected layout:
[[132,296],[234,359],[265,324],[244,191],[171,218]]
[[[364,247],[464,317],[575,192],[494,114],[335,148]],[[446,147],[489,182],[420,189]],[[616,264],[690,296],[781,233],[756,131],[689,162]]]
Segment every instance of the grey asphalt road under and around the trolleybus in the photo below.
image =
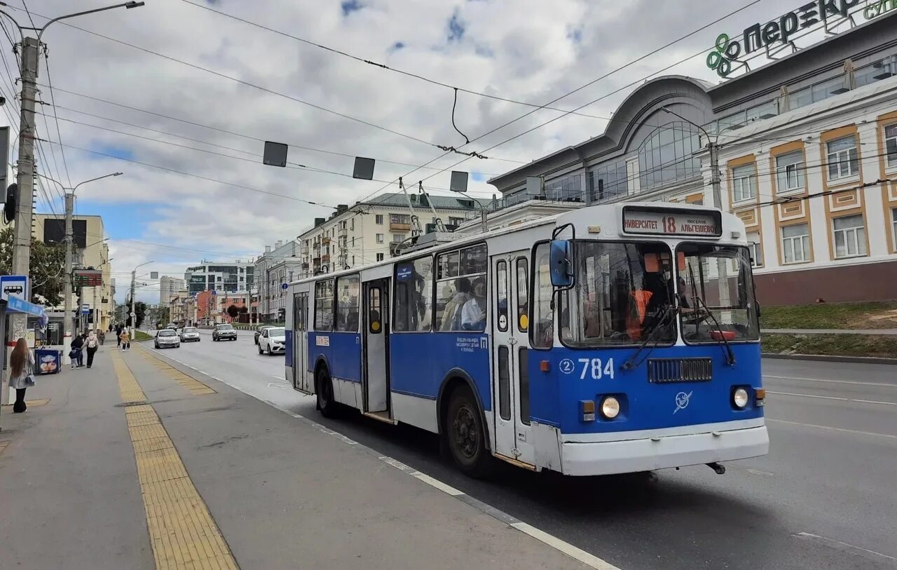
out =
[[[284,380],[283,355],[235,342],[161,351],[343,433],[623,570],[897,568],[897,369],[764,361],[769,455],[656,477],[564,478],[508,467],[460,475],[435,436],[350,415],[327,420]],[[434,516],[438,513],[433,513]]]

